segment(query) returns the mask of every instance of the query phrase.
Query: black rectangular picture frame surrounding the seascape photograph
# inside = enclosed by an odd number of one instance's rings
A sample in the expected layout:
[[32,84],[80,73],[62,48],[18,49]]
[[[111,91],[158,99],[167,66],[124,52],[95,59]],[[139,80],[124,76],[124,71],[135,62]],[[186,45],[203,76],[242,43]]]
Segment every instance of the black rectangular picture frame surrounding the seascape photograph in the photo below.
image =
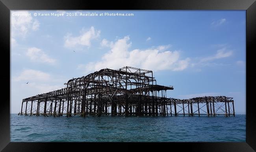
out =
[[[174,142],[174,143],[15,143],[10,142],[10,10],[246,10],[246,142]],[[253,91],[256,75],[253,65],[256,44],[255,0],[0,0],[0,49],[1,103],[0,103],[0,150],[2,151],[66,151],[67,149],[94,148],[99,150],[143,150],[167,148],[189,151],[255,151],[256,112]],[[234,82],[235,83],[235,82]],[[9,95],[9,96],[8,96]],[[101,146],[98,146],[101,144]],[[160,150],[160,149],[159,149]]]

